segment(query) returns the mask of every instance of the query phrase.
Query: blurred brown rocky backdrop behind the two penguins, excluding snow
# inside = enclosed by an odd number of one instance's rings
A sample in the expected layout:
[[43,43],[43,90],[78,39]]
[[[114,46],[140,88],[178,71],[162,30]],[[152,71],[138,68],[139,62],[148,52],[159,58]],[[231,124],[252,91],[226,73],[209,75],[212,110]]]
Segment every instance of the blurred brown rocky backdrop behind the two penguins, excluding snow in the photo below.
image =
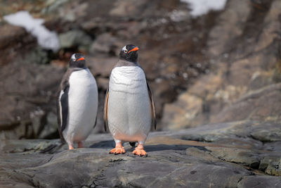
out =
[[[29,11],[58,33],[46,50],[4,15]],[[1,1],[0,137],[55,138],[55,96],[70,56],[86,54],[100,93],[126,44],[141,46],[157,130],[233,120],[281,120],[281,2],[229,0],[190,15],[186,1]]]

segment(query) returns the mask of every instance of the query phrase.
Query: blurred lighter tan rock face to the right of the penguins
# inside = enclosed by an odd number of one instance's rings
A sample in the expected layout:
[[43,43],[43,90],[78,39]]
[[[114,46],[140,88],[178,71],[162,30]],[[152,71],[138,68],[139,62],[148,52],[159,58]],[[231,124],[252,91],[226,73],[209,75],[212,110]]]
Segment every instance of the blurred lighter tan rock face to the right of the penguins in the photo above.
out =
[[280,1],[228,1],[209,32],[211,73],[164,106],[165,127],[244,119],[280,122],[280,8]]

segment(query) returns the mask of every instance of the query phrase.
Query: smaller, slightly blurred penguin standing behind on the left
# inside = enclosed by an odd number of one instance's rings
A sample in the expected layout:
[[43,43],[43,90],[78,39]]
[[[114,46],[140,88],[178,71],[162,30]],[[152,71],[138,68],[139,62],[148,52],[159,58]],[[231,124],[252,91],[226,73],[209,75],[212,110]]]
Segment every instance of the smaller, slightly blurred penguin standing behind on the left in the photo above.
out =
[[98,87],[82,54],[73,54],[70,65],[60,83],[57,100],[58,130],[69,149],[74,142],[83,147],[84,141],[96,125]]

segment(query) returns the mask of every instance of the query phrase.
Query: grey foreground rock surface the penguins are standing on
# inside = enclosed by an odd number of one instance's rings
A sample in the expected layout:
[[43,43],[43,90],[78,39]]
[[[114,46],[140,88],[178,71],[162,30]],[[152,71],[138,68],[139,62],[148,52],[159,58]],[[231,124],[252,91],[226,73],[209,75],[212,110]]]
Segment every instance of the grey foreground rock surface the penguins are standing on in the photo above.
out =
[[128,143],[124,155],[110,155],[110,134],[91,134],[84,149],[40,153],[57,142],[1,141],[0,187],[281,187],[278,123],[152,132],[147,158]]

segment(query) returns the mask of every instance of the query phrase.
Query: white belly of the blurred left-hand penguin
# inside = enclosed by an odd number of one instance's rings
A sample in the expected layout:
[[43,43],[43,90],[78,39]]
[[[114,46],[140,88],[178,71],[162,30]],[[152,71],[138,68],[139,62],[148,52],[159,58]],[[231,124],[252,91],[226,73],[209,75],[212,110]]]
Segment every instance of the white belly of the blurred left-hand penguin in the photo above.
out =
[[89,69],[74,71],[70,75],[68,92],[69,119],[63,132],[66,141],[86,139],[96,121],[98,88]]

